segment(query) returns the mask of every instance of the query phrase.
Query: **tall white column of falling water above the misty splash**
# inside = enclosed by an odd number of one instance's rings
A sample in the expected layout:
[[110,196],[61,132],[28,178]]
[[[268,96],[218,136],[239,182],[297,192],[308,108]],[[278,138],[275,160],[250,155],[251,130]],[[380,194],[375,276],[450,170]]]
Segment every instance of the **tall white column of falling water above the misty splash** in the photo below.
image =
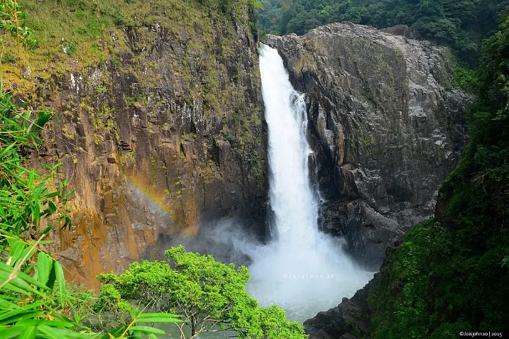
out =
[[[276,58],[277,57],[277,58]],[[314,246],[317,201],[310,186],[304,95],[294,91],[278,52],[266,47],[261,60],[263,98],[266,105],[270,207],[281,250],[296,245]]]

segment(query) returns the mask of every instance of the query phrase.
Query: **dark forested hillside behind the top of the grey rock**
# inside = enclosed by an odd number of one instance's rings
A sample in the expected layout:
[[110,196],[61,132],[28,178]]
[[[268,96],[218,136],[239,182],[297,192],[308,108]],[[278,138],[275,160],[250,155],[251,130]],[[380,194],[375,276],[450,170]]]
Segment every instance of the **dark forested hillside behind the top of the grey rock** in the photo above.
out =
[[420,38],[450,45],[460,60],[476,65],[483,38],[498,26],[507,0],[264,0],[261,29],[302,35],[326,23],[351,21],[387,28],[412,26]]

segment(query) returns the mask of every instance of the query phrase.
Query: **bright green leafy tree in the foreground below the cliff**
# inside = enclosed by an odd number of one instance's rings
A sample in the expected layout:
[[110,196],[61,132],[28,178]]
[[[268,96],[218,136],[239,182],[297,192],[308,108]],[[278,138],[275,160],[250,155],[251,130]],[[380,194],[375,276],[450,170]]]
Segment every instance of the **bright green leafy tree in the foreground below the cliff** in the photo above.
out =
[[299,323],[286,320],[283,309],[258,307],[246,293],[246,267],[235,269],[183,246],[165,255],[168,261],[135,262],[119,276],[100,274],[102,311],[128,314],[128,304],[154,304],[153,311],[183,315],[184,322],[176,324],[182,339],[221,330],[235,330],[239,338],[307,338]]

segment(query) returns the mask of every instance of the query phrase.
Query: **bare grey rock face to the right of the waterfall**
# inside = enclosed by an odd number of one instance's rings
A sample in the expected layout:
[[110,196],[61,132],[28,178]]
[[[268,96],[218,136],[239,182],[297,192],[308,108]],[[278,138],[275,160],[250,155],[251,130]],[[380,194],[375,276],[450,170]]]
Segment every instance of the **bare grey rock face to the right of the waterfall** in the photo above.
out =
[[352,23],[267,40],[307,93],[321,226],[378,269],[385,248],[432,216],[461,155],[471,98],[447,89],[454,62],[445,48]]

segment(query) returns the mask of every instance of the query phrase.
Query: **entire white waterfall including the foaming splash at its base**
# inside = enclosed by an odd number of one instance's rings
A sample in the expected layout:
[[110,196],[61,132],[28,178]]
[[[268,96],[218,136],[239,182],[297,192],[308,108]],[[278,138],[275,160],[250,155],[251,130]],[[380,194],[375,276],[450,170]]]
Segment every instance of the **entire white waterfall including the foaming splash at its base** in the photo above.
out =
[[275,239],[249,250],[247,291],[261,306],[277,304],[289,320],[302,322],[353,296],[373,273],[354,266],[343,240],[318,230],[304,96],[292,88],[277,50],[262,45],[260,53]]

